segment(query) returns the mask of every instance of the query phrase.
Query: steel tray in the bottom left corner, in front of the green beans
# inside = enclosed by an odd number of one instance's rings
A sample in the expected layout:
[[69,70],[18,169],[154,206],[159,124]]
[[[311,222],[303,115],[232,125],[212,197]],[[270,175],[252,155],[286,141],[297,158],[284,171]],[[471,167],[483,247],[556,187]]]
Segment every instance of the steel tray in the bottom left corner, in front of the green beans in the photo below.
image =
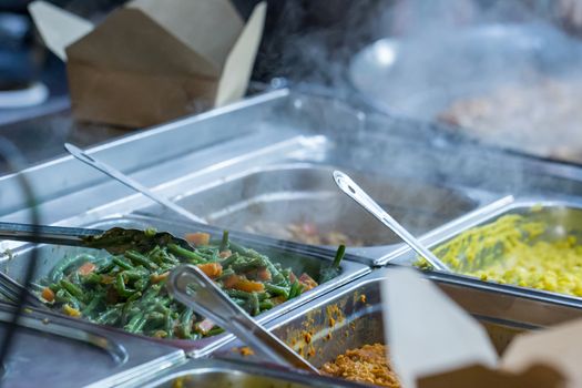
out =
[[[2,338],[14,308],[0,304]],[[182,350],[27,309],[1,366],[6,387],[113,387],[183,363]]]

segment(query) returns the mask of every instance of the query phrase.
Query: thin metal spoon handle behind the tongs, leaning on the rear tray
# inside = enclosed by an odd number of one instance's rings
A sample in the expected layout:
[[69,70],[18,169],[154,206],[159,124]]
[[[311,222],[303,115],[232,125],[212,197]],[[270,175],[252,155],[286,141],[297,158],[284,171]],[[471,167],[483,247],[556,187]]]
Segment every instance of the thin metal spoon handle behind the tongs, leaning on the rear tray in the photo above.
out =
[[135,190],[137,193],[141,193],[145,195],[146,197],[149,197],[150,200],[157,202],[160,205],[171,210],[172,212],[175,212],[180,214],[181,216],[186,217],[190,221],[193,221],[200,224],[207,224],[206,219],[198,217],[197,215],[185,210],[184,207],[176,205],[172,201],[161,195],[155,194],[150,188],[145,187],[143,184],[133,180],[132,177],[129,177],[121,171],[110,166],[109,164],[98,161],[93,156],[88,155],[83,150],[79,149],[78,146],[70,144],[70,143],[64,143],[64,149],[69,151],[71,155],[80,160],[81,162],[86,163],[93,169],[101,171],[105,175],[111,176],[118,182],[124,184],[125,186]]

